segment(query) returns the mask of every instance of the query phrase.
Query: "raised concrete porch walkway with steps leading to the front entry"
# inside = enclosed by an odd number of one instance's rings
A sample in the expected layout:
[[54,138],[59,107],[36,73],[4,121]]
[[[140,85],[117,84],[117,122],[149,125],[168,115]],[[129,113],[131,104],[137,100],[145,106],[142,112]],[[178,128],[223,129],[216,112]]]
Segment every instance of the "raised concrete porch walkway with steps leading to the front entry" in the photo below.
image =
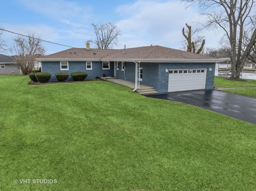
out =
[[[116,83],[122,86],[126,86],[132,89],[135,89],[135,83],[134,82],[129,82],[126,80],[121,80],[118,79],[117,77],[101,77],[102,79],[106,81],[110,81],[112,83]],[[157,94],[158,92],[154,89],[154,87],[146,86],[140,84],[140,89],[137,89],[136,92],[138,92],[141,95],[146,95],[146,94]]]

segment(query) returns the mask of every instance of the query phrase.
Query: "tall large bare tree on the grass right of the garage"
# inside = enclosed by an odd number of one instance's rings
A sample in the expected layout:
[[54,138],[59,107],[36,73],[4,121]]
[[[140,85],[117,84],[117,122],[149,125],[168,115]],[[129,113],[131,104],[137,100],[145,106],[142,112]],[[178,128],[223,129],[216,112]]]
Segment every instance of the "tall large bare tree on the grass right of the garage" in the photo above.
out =
[[[231,78],[239,79],[244,61],[250,55],[256,39],[256,16],[254,0],[182,0],[199,3],[201,14],[207,16],[206,27],[220,28],[225,32],[231,48]],[[244,31],[253,28],[248,44],[242,51]]]

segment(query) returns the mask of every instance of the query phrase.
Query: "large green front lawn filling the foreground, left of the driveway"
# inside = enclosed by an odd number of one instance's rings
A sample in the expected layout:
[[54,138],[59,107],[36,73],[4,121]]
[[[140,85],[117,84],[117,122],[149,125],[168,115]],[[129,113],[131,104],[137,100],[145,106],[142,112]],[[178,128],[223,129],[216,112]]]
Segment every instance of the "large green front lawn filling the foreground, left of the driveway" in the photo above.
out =
[[253,124],[106,81],[28,81],[0,76],[0,190],[256,188]]

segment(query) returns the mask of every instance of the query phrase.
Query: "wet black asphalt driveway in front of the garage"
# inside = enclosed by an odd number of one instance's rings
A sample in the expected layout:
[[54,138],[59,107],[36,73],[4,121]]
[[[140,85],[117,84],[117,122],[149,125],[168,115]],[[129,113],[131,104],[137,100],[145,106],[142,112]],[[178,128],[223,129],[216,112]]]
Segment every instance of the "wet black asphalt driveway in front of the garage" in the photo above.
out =
[[162,93],[146,96],[198,106],[226,116],[256,124],[256,98],[236,95],[214,89]]

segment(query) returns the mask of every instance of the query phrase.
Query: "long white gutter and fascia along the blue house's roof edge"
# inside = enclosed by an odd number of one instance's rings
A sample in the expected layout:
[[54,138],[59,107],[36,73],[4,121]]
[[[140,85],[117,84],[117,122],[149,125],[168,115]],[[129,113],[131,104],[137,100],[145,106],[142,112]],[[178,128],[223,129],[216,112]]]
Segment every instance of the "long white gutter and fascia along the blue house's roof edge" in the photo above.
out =
[[125,61],[125,62],[149,62],[149,63],[216,63],[224,59],[52,59],[37,58],[37,61]]

